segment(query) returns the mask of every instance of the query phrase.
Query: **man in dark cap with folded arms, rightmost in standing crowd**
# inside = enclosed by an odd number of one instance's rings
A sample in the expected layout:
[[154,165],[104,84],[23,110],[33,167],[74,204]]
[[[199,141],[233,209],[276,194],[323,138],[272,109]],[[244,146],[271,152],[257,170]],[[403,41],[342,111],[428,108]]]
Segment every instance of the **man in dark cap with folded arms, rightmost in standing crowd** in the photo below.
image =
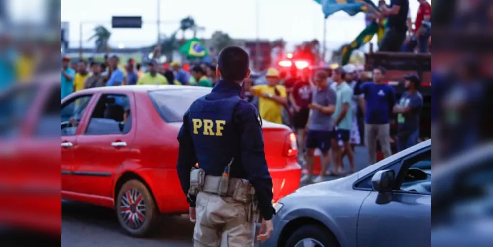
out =
[[406,76],[406,89],[394,106],[397,113],[397,149],[402,151],[419,142],[419,116],[423,108],[423,96],[417,90],[421,80],[417,75]]

